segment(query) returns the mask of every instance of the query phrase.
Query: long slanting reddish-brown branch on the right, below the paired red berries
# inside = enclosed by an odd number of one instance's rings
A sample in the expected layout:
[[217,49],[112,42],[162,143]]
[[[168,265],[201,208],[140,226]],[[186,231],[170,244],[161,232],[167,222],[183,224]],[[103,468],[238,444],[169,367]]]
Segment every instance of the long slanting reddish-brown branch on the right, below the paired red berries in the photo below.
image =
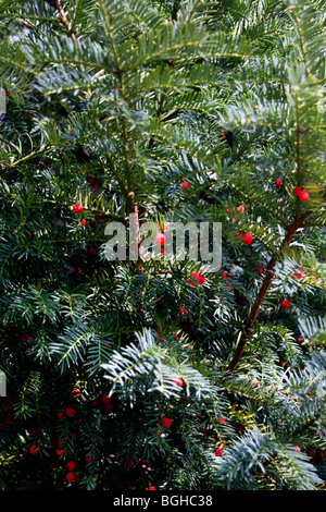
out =
[[[294,222],[287,229],[287,232],[286,232],[286,235],[285,235],[285,239],[281,243],[281,249],[286,246],[286,245],[289,245],[292,241],[292,237],[293,235],[296,234],[297,230],[302,228],[303,225],[303,221],[304,221],[304,217],[300,217],[298,219],[294,220]],[[228,365],[228,369],[230,371],[233,371],[237,364],[239,363],[241,356],[242,356],[242,353],[243,353],[243,349],[246,346],[246,343],[250,337],[250,333],[251,333],[251,329],[252,329],[252,326],[253,326],[253,322],[255,321],[256,319],[256,316],[259,314],[259,310],[261,308],[261,305],[263,303],[263,300],[265,298],[265,295],[268,291],[268,288],[274,279],[274,269],[275,269],[275,263],[276,263],[276,257],[275,255],[272,257],[267,268],[266,268],[266,275],[265,275],[265,278],[263,280],[263,283],[261,285],[261,289],[258,293],[258,296],[252,305],[252,309],[250,312],[250,315],[244,324],[244,327],[243,327],[243,330],[241,332],[241,337],[240,337],[240,340],[239,340],[239,343],[236,348],[236,351],[234,353],[234,356],[233,356],[233,359],[230,362],[230,364]]]

